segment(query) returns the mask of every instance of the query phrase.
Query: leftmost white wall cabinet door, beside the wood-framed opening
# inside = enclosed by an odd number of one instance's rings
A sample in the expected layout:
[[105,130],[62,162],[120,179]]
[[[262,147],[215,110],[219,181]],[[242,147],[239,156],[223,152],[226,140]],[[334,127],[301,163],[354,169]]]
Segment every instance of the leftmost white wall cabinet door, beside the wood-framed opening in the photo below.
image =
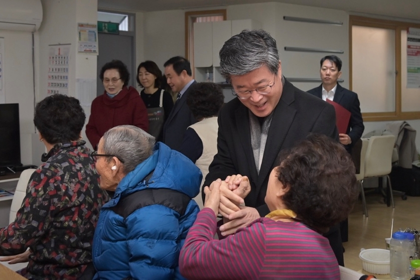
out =
[[212,23],[194,23],[194,66],[211,67]]

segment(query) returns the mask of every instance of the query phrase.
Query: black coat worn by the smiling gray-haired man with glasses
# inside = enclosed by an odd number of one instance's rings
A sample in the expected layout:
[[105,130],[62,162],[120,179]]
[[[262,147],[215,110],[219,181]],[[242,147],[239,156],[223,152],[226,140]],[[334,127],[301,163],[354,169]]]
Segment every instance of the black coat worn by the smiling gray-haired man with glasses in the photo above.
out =
[[[269,213],[264,198],[269,174],[279,165],[279,153],[295,146],[309,132],[322,133],[338,141],[335,109],[333,105],[296,88],[286,80],[282,96],[274,108],[259,175],[251,148],[248,111],[238,98],[229,101],[220,110],[217,154],[210,164],[203,188],[218,178],[224,180],[228,175],[248,176],[251,192],[245,198],[245,205],[255,207],[263,217]],[[204,201],[204,191],[202,193]],[[344,265],[338,225],[325,236],[339,264]]]

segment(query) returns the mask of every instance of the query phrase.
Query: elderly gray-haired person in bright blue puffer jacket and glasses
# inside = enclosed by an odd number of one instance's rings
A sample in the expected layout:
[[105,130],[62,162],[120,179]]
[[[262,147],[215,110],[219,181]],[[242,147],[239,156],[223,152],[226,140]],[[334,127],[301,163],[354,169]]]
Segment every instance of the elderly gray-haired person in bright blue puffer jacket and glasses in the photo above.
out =
[[132,125],[109,129],[93,158],[102,206],[93,239],[94,279],[184,279],[178,258],[199,208],[201,172]]

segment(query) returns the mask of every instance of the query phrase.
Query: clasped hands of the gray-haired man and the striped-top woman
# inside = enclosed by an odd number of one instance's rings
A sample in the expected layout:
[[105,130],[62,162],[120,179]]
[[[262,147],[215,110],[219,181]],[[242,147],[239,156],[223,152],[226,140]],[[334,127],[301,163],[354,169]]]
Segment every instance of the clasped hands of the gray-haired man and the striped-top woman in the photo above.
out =
[[248,177],[240,174],[217,179],[204,187],[206,195],[204,207],[211,208],[215,215],[223,216],[224,224],[220,226],[223,236],[233,234],[238,228],[247,226],[259,218],[255,208],[244,206],[244,198],[251,191]]

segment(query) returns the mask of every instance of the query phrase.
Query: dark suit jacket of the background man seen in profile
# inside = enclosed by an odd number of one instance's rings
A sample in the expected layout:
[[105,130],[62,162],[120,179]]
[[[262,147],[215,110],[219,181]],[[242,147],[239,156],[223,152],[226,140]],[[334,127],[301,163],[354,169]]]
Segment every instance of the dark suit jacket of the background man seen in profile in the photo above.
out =
[[[194,81],[191,85],[195,84]],[[171,149],[179,151],[187,127],[197,122],[187,105],[187,96],[191,85],[172,108],[163,128],[163,143]]]

